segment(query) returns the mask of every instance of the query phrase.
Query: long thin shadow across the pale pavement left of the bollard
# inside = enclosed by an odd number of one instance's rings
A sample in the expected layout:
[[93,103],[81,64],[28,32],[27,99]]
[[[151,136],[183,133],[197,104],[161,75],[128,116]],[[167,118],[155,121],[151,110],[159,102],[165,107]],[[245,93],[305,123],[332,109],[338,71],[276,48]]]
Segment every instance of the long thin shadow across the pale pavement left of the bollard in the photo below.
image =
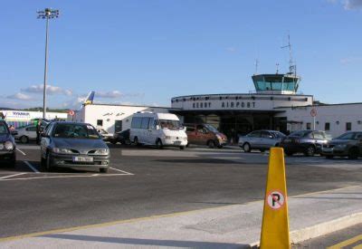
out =
[[133,244],[145,246],[172,246],[186,248],[250,248],[248,244],[229,244],[217,242],[197,242],[197,241],[176,241],[176,240],[157,240],[157,239],[138,239],[138,238],[117,238],[102,237],[90,235],[43,235],[46,238],[77,240],[86,242],[103,242],[114,244]]

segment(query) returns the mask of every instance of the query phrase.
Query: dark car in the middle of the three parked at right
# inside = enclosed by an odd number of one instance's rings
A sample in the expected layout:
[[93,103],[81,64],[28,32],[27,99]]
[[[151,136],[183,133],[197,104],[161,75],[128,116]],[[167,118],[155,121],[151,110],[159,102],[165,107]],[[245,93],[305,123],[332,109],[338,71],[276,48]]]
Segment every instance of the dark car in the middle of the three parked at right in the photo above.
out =
[[301,152],[311,157],[320,153],[322,145],[327,144],[330,139],[329,135],[322,130],[299,130],[281,139],[280,147],[284,148],[288,156]]

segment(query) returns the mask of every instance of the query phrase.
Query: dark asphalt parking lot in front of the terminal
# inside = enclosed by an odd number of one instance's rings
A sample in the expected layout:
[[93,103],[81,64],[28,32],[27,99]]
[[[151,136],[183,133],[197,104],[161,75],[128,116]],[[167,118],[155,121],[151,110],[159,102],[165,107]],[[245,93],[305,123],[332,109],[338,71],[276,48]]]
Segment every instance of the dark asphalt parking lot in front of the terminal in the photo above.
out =
[[[0,236],[243,204],[263,198],[267,153],[238,148],[110,146],[111,168],[44,172],[39,148],[18,146],[0,168]],[[362,159],[286,158],[289,195],[360,185]],[[333,170],[331,170],[333,168]]]

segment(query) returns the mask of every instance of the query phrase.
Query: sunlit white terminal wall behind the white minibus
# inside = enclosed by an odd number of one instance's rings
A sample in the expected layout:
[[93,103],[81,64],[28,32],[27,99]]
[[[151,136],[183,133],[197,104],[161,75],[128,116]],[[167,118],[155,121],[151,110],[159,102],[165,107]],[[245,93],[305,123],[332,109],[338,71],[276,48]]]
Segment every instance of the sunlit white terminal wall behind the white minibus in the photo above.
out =
[[[116,120],[122,121],[122,130],[129,129],[134,113],[138,111],[167,113],[169,109],[167,107],[89,104],[76,111],[72,120],[90,123],[97,129],[114,133]],[[97,125],[97,120],[103,120],[102,126]]]

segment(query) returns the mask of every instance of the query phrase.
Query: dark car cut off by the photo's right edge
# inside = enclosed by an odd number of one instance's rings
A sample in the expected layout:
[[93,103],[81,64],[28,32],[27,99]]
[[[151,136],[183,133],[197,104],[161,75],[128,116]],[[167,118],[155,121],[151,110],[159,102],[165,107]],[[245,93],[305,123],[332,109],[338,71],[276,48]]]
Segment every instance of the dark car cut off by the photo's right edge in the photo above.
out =
[[323,145],[322,155],[326,158],[362,157],[362,132],[347,132]]

